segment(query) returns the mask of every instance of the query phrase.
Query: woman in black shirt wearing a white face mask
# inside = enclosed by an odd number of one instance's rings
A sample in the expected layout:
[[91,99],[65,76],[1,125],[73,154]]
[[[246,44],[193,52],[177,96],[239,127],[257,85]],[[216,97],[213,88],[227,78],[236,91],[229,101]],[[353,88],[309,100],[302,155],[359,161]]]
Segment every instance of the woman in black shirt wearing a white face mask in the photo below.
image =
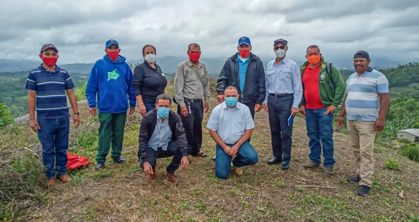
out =
[[165,74],[156,64],[156,48],[152,45],[143,47],[144,62],[134,70],[134,92],[141,115],[156,109],[156,98],[165,93],[168,84]]

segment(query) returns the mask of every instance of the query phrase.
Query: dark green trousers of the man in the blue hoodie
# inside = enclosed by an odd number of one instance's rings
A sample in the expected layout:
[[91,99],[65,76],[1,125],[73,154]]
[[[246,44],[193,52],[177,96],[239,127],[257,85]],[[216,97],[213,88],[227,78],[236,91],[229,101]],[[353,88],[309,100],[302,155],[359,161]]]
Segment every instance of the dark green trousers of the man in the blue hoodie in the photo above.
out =
[[104,163],[112,142],[111,157],[121,156],[124,141],[124,129],[126,112],[110,113],[99,112],[99,144],[97,148],[96,162]]

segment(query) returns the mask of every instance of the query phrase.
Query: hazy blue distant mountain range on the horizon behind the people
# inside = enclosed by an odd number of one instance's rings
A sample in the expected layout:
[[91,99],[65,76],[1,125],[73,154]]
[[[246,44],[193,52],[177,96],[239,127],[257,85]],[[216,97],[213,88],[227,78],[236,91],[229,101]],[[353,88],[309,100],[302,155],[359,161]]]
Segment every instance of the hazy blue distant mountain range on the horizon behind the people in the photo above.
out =
[[[157,58],[157,64],[162,68],[164,73],[167,74],[174,74],[176,72],[177,66],[182,61],[186,60],[187,57],[175,57],[175,56],[166,56],[162,58]],[[273,58],[261,58],[263,64],[268,64]],[[227,58],[201,58],[201,61],[204,62],[207,66],[208,72],[211,78],[215,78],[220,73],[225,61]],[[143,60],[130,60],[127,61],[129,64],[135,66],[136,64],[144,62]],[[302,64],[304,61],[296,60],[298,64]],[[335,58],[334,60],[330,60],[336,67],[342,69],[353,69],[352,64],[348,64],[348,61],[341,58]],[[385,68],[392,68],[396,67],[398,62],[389,61],[386,59],[377,59],[373,61],[373,65],[375,69],[385,69]],[[33,60],[13,60],[13,59],[0,59],[0,67],[1,73],[3,72],[20,72],[20,71],[30,71],[41,64],[41,61],[33,61]],[[80,74],[88,74],[90,73],[91,68],[93,67],[93,63],[74,63],[74,64],[66,64],[60,65],[60,67],[66,69],[70,74],[72,73],[80,73]],[[173,75],[168,75],[173,76]]]

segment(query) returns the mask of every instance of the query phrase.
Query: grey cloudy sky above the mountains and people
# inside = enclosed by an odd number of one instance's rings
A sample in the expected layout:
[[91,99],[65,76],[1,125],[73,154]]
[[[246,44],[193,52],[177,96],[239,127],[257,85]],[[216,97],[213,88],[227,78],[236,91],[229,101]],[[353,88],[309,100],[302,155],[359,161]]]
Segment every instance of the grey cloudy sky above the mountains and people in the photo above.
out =
[[[121,55],[142,58],[144,44],[157,56],[185,56],[197,42],[202,56],[227,58],[241,36],[252,52],[275,57],[273,41],[289,41],[287,56],[302,61],[308,45],[326,58],[352,61],[357,50],[373,59],[419,60],[418,0],[7,0],[0,13],[0,59],[38,60],[43,43],[59,50],[59,63],[93,63],[105,41]],[[7,5],[7,6],[6,6]]]

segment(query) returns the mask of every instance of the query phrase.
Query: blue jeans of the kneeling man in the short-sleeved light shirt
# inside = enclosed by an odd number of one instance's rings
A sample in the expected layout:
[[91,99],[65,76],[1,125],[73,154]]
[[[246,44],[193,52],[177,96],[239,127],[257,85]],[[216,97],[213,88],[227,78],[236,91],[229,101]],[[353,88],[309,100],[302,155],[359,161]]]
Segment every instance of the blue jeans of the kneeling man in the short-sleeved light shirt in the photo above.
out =
[[[229,147],[233,147],[234,144],[227,144]],[[225,153],[224,149],[220,145],[216,146],[216,157],[215,157],[215,176],[221,179],[226,179],[230,174],[230,164],[232,156]],[[259,158],[257,157],[257,152],[251,146],[251,144],[246,141],[237,151],[236,157],[233,159],[233,165],[235,167],[244,167],[249,165],[254,165],[257,163]]]

